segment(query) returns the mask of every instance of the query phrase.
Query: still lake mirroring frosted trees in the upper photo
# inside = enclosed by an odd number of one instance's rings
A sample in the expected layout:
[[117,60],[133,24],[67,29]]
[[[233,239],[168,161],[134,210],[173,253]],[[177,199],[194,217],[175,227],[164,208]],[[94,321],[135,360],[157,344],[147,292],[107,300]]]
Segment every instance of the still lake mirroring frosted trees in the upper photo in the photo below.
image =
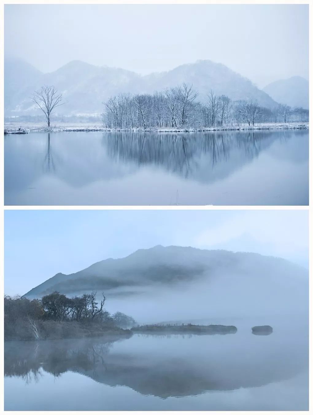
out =
[[5,205],[308,205],[308,131],[5,136]]

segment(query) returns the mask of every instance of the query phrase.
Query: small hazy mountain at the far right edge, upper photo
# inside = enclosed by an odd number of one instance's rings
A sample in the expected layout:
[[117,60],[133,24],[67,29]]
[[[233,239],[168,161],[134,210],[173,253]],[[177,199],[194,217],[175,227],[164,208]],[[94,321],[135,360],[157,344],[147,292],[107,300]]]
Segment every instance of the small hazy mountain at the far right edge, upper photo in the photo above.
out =
[[289,79],[272,82],[265,86],[263,91],[280,104],[308,109],[309,84],[301,76],[292,76]]

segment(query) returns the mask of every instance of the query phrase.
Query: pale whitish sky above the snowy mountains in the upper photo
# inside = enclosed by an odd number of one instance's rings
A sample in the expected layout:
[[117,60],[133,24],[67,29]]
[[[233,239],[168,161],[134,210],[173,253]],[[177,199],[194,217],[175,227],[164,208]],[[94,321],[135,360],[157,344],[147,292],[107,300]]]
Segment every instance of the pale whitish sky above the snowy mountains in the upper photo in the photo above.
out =
[[5,55],[142,74],[209,59],[264,87],[308,78],[308,5],[5,5]]

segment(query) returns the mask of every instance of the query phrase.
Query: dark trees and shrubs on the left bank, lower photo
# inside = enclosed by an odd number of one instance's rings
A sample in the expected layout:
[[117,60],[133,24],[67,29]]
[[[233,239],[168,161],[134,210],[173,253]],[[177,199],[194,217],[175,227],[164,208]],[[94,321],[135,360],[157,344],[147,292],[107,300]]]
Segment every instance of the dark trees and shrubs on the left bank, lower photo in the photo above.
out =
[[[102,298],[97,302],[97,293],[73,296],[68,298],[66,295],[54,292],[44,295],[41,300],[29,300],[24,297],[10,297],[5,295],[5,334],[11,337],[12,333],[24,333],[21,337],[40,338],[41,322],[75,322],[91,325],[93,323],[103,324],[109,327],[131,327],[135,325],[135,320],[121,312],[111,315],[104,309],[106,297],[102,293]],[[18,328],[17,328],[18,327]]]

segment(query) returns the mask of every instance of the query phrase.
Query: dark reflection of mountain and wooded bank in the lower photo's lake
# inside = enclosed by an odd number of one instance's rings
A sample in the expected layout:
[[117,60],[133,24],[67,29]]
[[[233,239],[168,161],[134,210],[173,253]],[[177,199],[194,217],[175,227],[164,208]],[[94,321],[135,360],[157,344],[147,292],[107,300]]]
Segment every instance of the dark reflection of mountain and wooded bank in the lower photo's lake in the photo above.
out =
[[72,371],[108,386],[167,398],[262,386],[291,378],[307,364],[305,353],[284,349],[283,342],[272,344],[269,337],[266,342],[254,337],[257,343],[247,346],[241,340],[234,344],[229,337],[216,345],[211,336],[197,336],[201,342],[194,343],[193,350],[188,335],[175,335],[178,349],[173,343],[166,347],[169,340],[164,338],[161,347],[156,344],[151,350],[151,342],[144,343],[147,337],[137,336],[140,347],[132,343],[128,348],[130,340],[124,340],[117,349],[103,339],[5,343],[5,376],[40,382],[44,372],[60,376]]

